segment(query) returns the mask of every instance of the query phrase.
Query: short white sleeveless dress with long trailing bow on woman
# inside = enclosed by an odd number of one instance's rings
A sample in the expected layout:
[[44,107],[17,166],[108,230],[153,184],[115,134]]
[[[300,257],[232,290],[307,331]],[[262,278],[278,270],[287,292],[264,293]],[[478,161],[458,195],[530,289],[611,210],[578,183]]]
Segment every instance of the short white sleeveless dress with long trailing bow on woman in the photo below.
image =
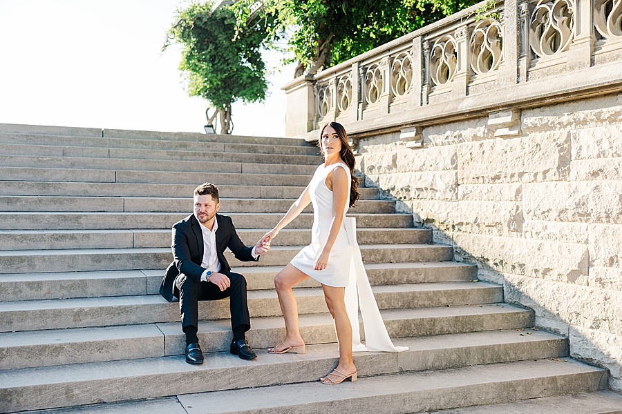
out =
[[[335,168],[343,168],[348,174],[348,200],[350,200],[350,168],[343,163],[324,166],[315,170],[309,184],[309,195],[313,205],[313,226],[311,244],[306,246],[290,262],[301,272],[316,279],[321,284],[346,287],[346,311],[352,324],[352,351],[406,351],[405,346],[393,346],[386,331],[378,304],[371,290],[369,279],[363,265],[361,250],[357,244],[357,229],[354,217],[346,217],[348,205],[343,211],[343,222],[337,239],[328,255],[326,269],[314,270],[313,266],[323,244],[328,239],[332,222],[332,191],[326,186],[326,177]],[[365,329],[366,346],[361,344],[359,333],[359,303]]]

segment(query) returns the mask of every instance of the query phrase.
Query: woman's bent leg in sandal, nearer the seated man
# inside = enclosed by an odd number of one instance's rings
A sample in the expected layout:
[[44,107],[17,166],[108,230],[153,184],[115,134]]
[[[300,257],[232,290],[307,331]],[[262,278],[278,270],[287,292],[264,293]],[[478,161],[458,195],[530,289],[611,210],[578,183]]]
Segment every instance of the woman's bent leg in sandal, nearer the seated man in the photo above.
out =
[[[279,304],[281,304],[281,312],[283,312],[283,319],[285,319],[286,334],[283,342],[288,346],[302,346],[305,343],[300,336],[298,304],[296,304],[296,297],[292,287],[304,279],[308,279],[308,277],[309,275],[306,273],[301,272],[292,264],[288,264],[274,278],[274,287],[276,288],[276,294],[279,295]],[[279,344],[279,346],[276,346],[275,351],[280,352],[283,348],[285,348],[283,344]]]

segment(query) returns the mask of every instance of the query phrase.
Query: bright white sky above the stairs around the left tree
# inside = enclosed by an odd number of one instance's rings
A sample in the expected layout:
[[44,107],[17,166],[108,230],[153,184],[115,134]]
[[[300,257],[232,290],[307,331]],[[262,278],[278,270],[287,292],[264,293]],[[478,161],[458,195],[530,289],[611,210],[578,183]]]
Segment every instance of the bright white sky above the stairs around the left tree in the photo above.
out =
[[[182,87],[178,48],[161,52],[185,3],[0,0],[0,123],[203,132],[207,102]],[[293,73],[270,77],[265,103],[234,104],[234,134],[284,136]]]

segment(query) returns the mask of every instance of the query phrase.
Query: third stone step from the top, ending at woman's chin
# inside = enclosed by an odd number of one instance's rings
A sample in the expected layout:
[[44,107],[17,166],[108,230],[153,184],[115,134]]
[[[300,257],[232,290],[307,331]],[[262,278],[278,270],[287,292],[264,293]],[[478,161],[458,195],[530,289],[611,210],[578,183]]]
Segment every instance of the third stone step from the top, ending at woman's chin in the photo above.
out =
[[257,164],[306,164],[317,166],[319,155],[289,155],[269,152],[147,150],[138,148],[105,148],[55,145],[0,144],[1,155],[48,157],[90,157],[121,159],[164,159],[172,161],[231,161]]

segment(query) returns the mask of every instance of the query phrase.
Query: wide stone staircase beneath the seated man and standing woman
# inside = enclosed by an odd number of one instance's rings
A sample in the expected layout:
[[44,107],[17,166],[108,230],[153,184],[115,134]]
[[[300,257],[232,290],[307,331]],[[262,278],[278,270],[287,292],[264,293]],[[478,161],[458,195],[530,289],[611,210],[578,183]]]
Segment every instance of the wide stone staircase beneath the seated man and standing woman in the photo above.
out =
[[250,245],[320,162],[301,139],[0,124],[0,412],[420,413],[605,386],[606,371],[567,357],[565,337],[531,328],[531,311],[476,282],[377,188],[349,215],[388,332],[409,351],[355,353],[359,382],[319,384],[338,354],[308,280],[296,288],[307,353],[265,352],[285,332],[274,275],[310,242],[309,207],[258,264],[227,257],[247,278],[259,357],[228,353],[225,299],[200,302],[206,360],[186,364],[178,304],[158,288],[194,188],[218,184]]

